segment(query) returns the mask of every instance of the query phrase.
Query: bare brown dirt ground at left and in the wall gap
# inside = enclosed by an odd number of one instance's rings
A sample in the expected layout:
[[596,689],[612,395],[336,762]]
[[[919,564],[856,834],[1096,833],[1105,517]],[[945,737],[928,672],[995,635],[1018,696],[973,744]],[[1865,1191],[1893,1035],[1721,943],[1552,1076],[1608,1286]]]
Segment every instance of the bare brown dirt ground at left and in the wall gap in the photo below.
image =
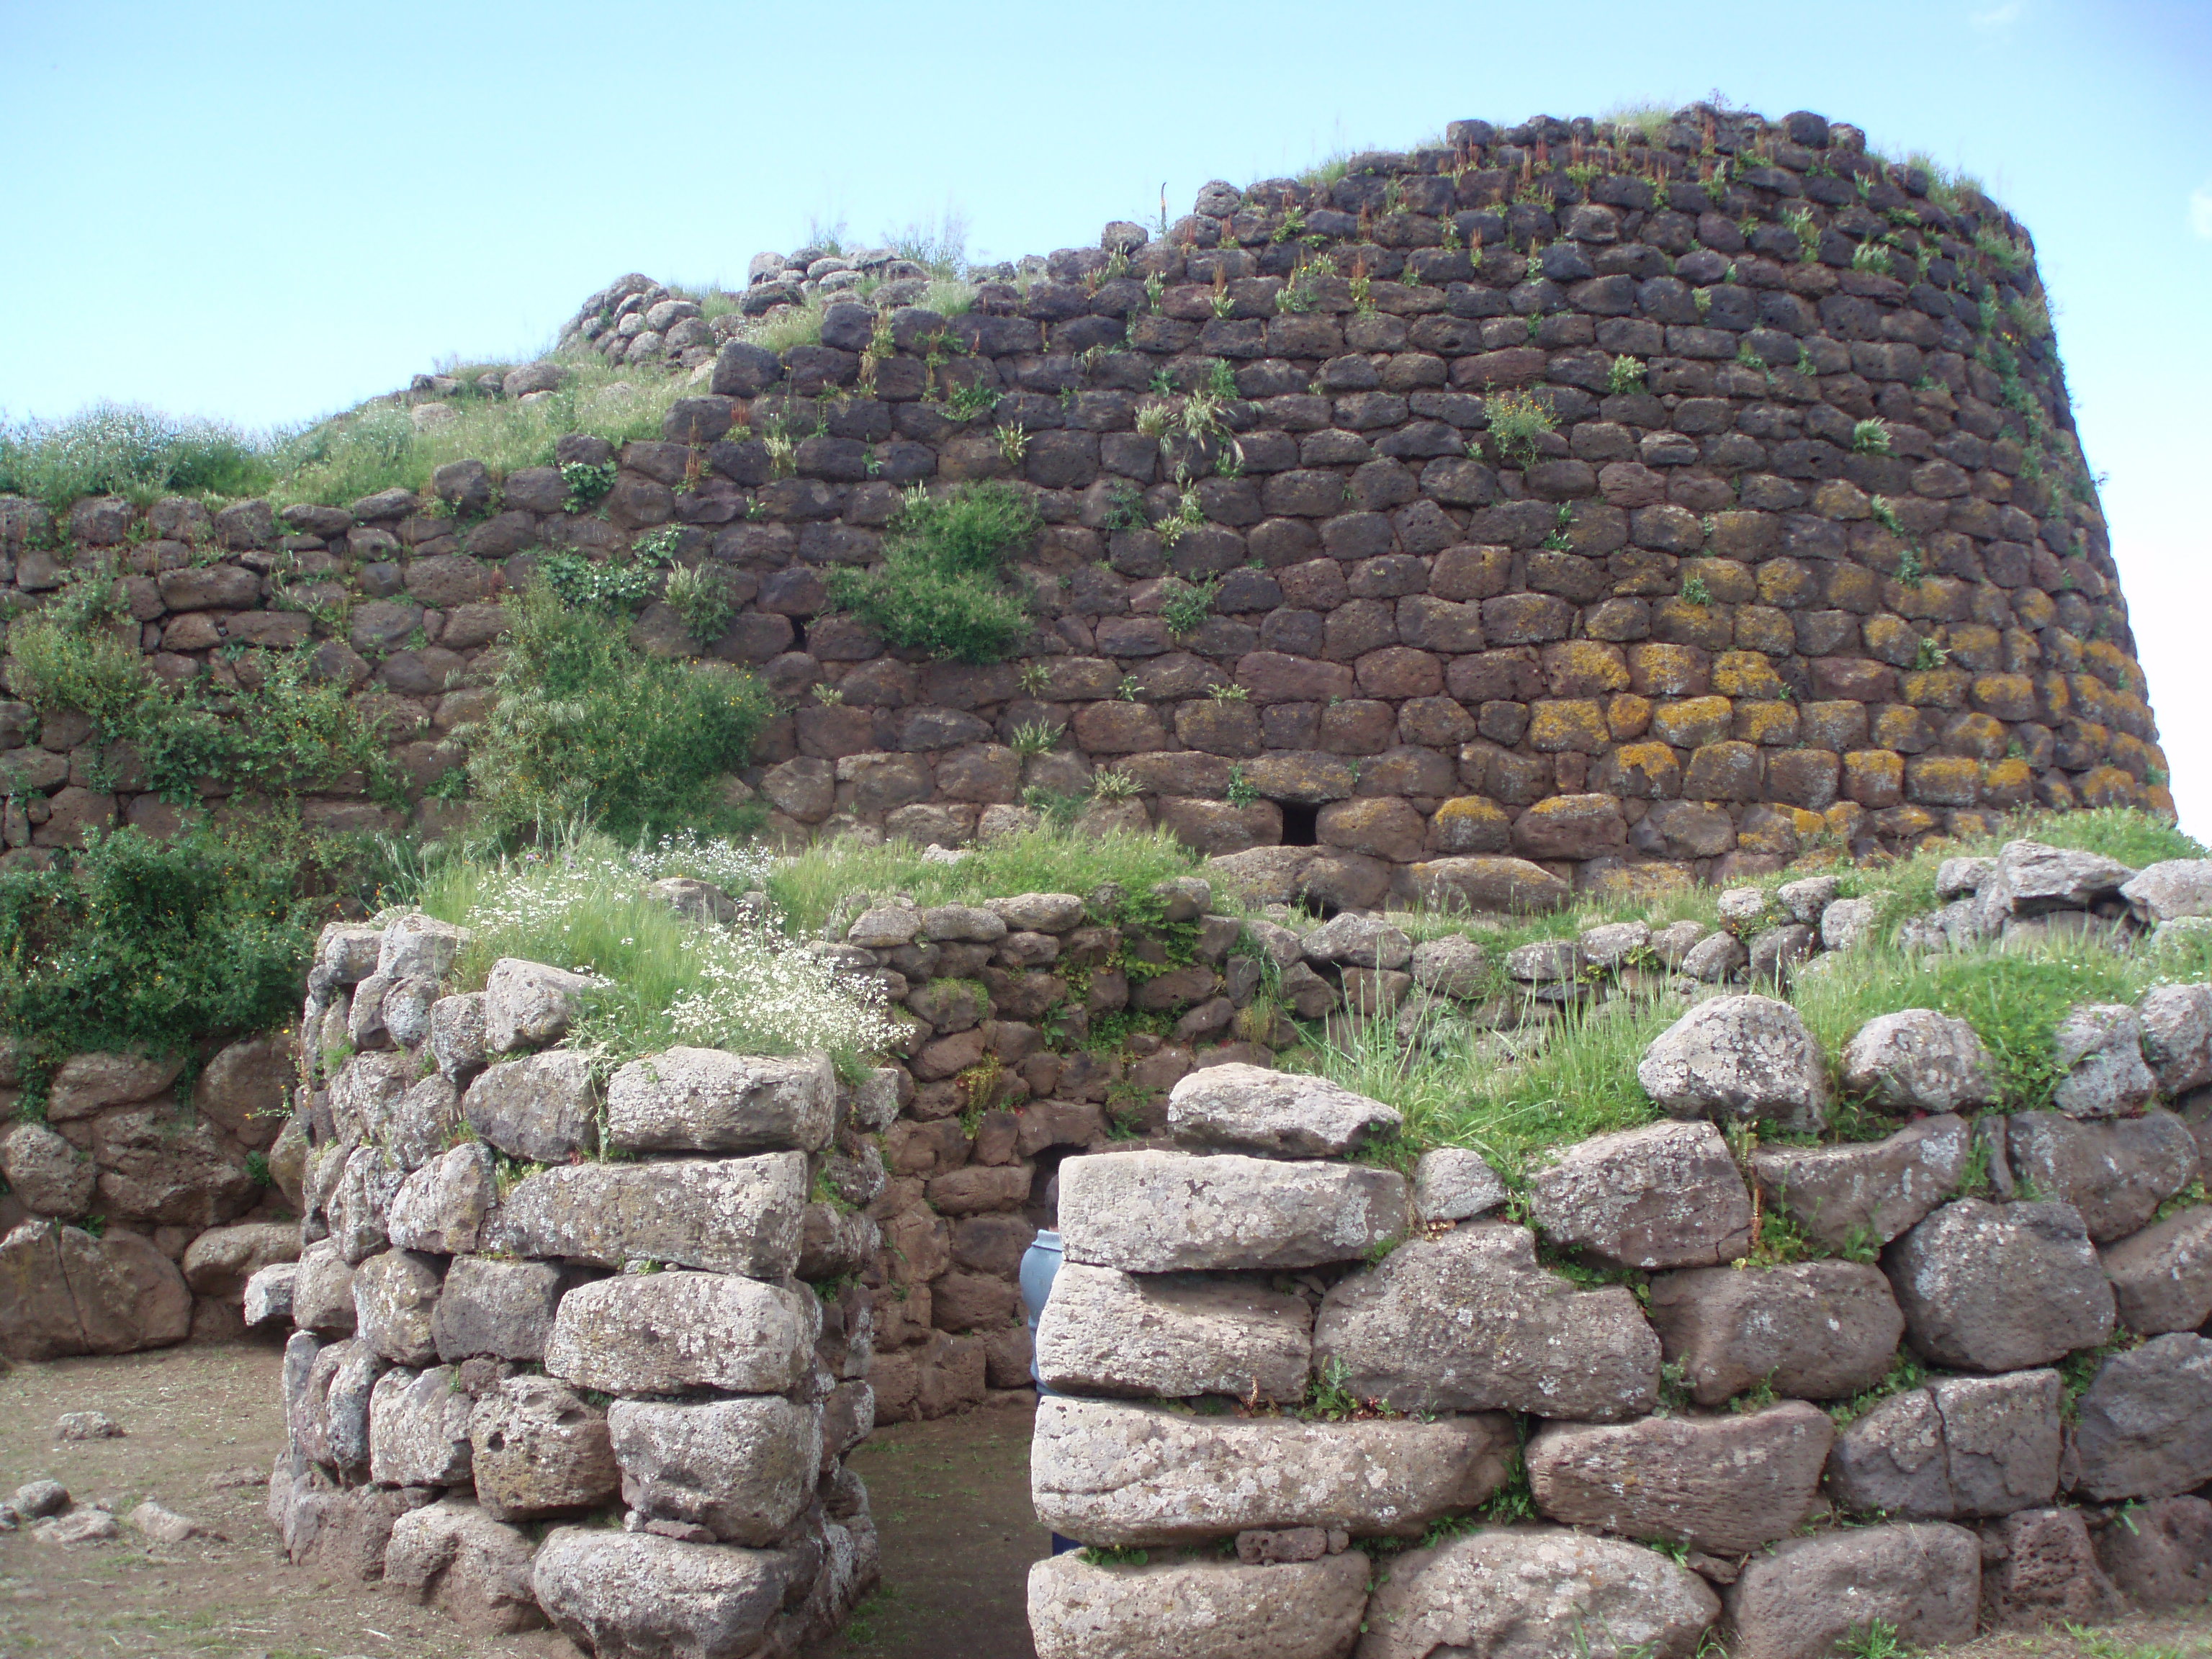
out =
[[[51,1475],[117,1517],[142,1498],[217,1537],[164,1548],[126,1531],[55,1548],[0,1535],[0,1659],[575,1659],[555,1632],[462,1637],[374,1584],[276,1551],[263,1513],[283,1444],[279,1349],[237,1343],[0,1376],[0,1493]],[[64,1411],[106,1411],[119,1440],[60,1442]],[[883,1588],[807,1659],[1033,1659],[1029,1413],[905,1422],[854,1453],[883,1535]],[[2212,1659],[2212,1613],[2101,1630],[1982,1637],[1949,1659]]]

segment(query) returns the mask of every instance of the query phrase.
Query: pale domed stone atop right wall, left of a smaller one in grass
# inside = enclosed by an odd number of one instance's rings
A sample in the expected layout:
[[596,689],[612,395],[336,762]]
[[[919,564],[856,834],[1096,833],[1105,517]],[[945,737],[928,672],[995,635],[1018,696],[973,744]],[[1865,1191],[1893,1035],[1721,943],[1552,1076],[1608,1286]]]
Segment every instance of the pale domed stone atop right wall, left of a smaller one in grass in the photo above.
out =
[[1652,1037],[1637,1082],[1674,1117],[1818,1128],[1827,1115],[1820,1044],[1798,1011],[1774,998],[1699,1002]]

